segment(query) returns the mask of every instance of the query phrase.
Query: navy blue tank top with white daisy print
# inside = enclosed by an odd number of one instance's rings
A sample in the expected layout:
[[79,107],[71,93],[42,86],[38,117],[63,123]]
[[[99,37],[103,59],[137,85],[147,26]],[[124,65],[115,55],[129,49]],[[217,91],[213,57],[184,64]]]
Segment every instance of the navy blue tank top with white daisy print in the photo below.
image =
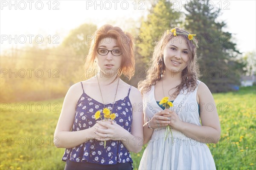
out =
[[[82,82],[81,85],[83,88]],[[116,113],[116,118],[113,121],[131,133],[132,105],[129,99],[130,91],[131,86],[125,98],[117,100],[114,105],[113,103],[106,104],[105,107],[111,110],[113,106],[112,113]],[[93,127],[96,124],[94,114],[96,111],[102,113],[103,108],[104,105],[84,93],[83,88],[83,94],[76,104],[75,120],[71,131]],[[109,140],[106,142],[106,148],[104,148],[103,141],[90,139],[76,147],[67,148],[62,160],[66,161],[67,159],[96,164],[133,163],[129,151],[120,140]]]

